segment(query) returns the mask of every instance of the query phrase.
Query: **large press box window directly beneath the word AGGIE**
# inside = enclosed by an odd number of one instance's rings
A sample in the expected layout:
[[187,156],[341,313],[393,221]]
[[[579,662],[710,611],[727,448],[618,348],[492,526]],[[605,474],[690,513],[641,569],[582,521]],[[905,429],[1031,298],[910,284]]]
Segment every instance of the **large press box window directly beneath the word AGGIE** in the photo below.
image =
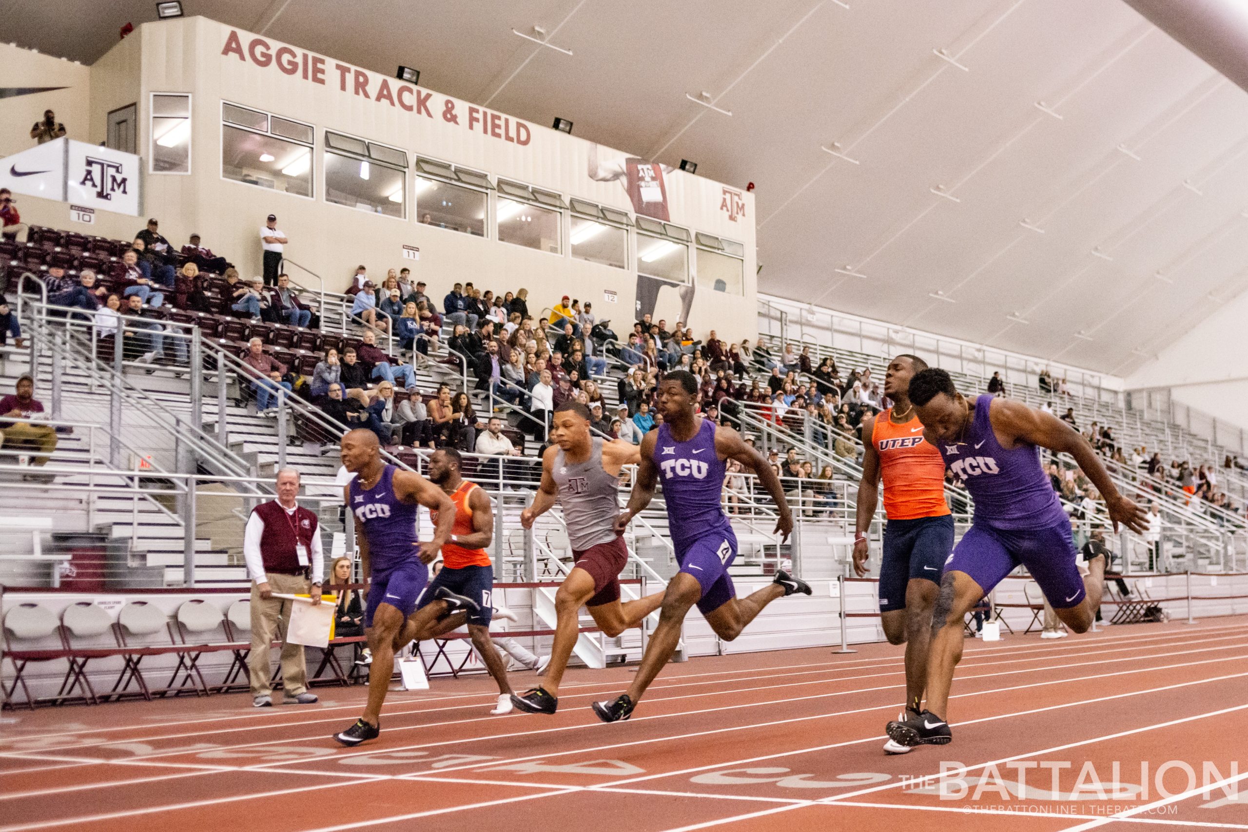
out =
[[312,196],[310,125],[226,102],[221,104],[221,176]]

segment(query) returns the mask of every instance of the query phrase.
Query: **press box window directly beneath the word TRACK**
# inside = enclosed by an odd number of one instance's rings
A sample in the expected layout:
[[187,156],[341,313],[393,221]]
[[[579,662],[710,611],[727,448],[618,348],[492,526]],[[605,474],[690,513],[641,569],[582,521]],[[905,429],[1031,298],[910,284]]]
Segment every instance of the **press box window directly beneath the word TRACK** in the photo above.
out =
[[324,201],[404,218],[407,153],[324,131]]

